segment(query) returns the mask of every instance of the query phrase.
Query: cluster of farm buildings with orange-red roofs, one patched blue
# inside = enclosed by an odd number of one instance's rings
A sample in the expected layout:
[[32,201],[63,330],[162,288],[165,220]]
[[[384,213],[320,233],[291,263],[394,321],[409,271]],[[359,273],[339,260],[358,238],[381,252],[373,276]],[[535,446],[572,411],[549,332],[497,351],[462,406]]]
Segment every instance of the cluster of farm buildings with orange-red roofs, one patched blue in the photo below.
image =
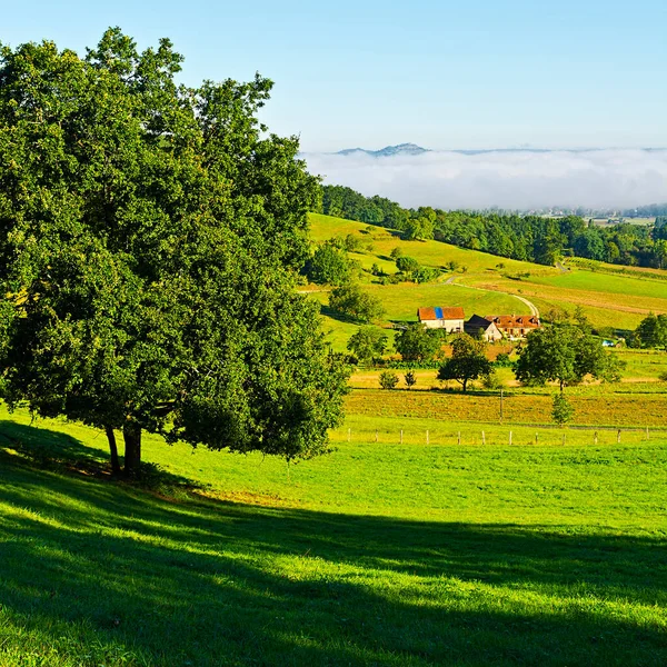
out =
[[465,332],[489,342],[502,338],[521,339],[540,327],[539,318],[532,315],[474,315],[466,320],[464,309],[459,306],[419,308],[417,317],[428,329],[445,329],[448,334]]

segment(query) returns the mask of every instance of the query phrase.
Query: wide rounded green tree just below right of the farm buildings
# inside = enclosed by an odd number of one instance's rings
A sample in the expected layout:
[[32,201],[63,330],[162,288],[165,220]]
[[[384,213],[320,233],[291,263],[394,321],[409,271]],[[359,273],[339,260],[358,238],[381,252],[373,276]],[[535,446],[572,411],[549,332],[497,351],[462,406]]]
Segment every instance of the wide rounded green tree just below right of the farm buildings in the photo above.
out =
[[621,364],[585,328],[558,325],[528,335],[520,351],[516,376],[524,384],[558,381],[560,390],[578,385],[586,375],[618,381]]

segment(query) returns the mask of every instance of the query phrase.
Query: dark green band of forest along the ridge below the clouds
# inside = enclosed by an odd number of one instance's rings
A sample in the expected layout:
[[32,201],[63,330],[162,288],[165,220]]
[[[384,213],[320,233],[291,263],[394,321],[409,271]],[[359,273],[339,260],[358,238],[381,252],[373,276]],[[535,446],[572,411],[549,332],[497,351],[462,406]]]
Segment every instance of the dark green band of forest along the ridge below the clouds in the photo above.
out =
[[667,216],[658,216],[654,226],[620,222],[598,227],[578,216],[405,209],[384,197],[364,197],[342,186],[322,186],[320,212],[397,229],[407,239],[436,239],[541,265],[584,257],[625,266],[667,267]]

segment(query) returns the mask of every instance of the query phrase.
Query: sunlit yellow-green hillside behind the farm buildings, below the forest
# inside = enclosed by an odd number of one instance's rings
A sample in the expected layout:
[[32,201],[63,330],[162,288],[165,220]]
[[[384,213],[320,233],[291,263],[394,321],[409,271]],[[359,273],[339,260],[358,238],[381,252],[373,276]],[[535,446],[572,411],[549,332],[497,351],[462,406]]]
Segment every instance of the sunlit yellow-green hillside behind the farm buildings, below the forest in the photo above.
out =
[[[438,241],[404,241],[392,230],[367,227],[340,218],[311,215],[310,222],[315,241],[352,233],[359,236],[365,243],[370,243],[370,250],[352,253],[366,269],[375,262],[387,272],[395,271],[396,267],[389,255],[398,247],[404,255],[414,257],[424,266],[447,270],[441,282],[452,281],[457,287],[407,283],[369,286],[387,308],[388,320],[408,317],[416,319],[418,306],[435,305],[460,305],[467,315],[529,312],[527,306],[515,297],[529,299],[541,313],[552,308],[571,312],[579,307],[596,327],[634,329],[649,312],[667,312],[667,271],[619,268],[583,260],[574,260],[568,263],[569,270],[561,271]],[[448,269],[450,261],[456,262],[457,270]],[[368,276],[366,280],[370,282]],[[411,289],[415,287],[428,288],[431,291],[419,293],[418,290]],[[461,287],[476,287],[484,291],[478,295],[469,290],[457,293],[456,290]],[[428,299],[430,301],[426,302]],[[320,300],[326,302],[326,295],[321,295]],[[419,300],[421,302],[418,302]],[[337,347],[340,347],[355,330],[354,327],[345,329],[330,321],[327,326],[332,331]]]

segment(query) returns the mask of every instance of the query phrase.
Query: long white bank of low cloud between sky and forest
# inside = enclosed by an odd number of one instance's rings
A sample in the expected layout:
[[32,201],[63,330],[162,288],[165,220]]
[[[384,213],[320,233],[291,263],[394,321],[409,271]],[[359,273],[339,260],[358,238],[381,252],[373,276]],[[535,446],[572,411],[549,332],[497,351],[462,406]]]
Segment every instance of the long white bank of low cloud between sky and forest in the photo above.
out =
[[667,150],[302,157],[326,183],[388,197],[405,207],[615,209],[667,202]]

